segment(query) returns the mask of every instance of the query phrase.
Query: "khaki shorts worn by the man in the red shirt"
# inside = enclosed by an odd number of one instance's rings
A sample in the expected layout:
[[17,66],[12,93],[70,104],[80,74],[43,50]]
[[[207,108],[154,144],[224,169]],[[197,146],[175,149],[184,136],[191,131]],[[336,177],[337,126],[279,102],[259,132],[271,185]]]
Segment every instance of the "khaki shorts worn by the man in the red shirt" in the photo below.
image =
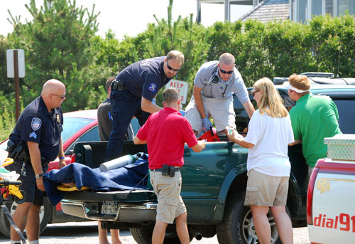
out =
[[174,219],[186,212],[186,207],[180,196],[181,173],[175,171],[175,176],[163,176],[162,172],[151,171],[151,184],[158,197],[156,220],[173,223]]

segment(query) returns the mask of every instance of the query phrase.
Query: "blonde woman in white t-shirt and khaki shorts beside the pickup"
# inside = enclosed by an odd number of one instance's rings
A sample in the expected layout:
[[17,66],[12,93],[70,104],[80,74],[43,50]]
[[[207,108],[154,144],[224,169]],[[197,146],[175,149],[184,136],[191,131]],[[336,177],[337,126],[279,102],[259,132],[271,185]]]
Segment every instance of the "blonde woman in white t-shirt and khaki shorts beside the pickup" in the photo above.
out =
[[246,137],[235,130],[228,138],[249,148],[248,183],[244,205],[250,206],[261,244],[271,243],[268,210],[271,208],[282,243],[293,243],[293,228],[285,211],[290,177],[288,144],[294,142],[290,116],[283,100],[268,78],[253,85],[258,110],[249,122]]

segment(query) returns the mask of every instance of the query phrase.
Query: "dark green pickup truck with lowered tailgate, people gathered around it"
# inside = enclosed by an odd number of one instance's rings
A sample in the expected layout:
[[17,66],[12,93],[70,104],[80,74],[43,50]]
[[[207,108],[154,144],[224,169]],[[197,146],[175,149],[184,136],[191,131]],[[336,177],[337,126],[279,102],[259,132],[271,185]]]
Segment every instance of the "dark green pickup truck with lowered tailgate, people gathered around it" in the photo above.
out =
[[[276,85],[286,106],[292,106],[288,90]],[[315,95],[332,97],[339,110],[343,133],[355,133],[355,85],[312,85]],[[249,90],[250,92],[250,90]],[[251,100],[252,100],[252,96]],[[236,126],[241,133],[248,127],[244,107],[234,99]],[[315,137],[317,134],[315,134]],[[80,143],[75,146],[77,162],[97,167],[104,159],[106,142]],[[142,152],[143,147],[125,142],[124,154]],[[210,238],[219,243],[258,243],[250,208],[244,206],[246,159],[248,149],[222,138],[208,142],[195,153],[185,147],[181,196],[187,207],[190,238]],[[293,227],[307,226],[307,166],[302,147],[289,147],[291,161],[288,213]],[[129,228],[137,243],[151,243],[157,200],[151,189],[135,191],[67,192],[62,210],[70,215],[103,221],[104,228]],[[269,213],[272,243],[280,243],[273,216]],[[179,243],[175,226],[169,225],[164,243]]]

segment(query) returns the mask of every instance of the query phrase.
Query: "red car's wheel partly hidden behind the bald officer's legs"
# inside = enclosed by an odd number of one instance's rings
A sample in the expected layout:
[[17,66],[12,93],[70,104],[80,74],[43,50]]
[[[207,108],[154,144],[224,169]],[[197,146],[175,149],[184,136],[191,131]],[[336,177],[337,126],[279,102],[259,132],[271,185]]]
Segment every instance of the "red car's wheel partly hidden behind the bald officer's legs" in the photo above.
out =
[[[17,203],[16,201],[4,201],[6,207],[9,209],[9,212],[11,213],[11,216],[16,210]],[[51,204],[48,197],[45,196],[43,199],[43,206],[40,207],[40,233],[45,230],[45,227],[48,224],[48,221],[50,220],[52,208]],[[10,238],[10,223],[8,219],[6,218],[6,215],[4,211],[0,211],[0,232],[5,235],[6,237]],[[26,230],[25,230],[26,231]]]

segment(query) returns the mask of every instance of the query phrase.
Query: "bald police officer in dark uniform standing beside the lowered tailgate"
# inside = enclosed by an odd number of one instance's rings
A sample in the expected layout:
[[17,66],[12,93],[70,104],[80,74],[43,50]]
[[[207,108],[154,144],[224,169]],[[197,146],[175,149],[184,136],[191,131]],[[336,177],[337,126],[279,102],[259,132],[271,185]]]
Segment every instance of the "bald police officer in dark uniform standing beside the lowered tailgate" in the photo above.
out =
[[[20,174],[20,189],[26,198],[18,204],[13,221],[26,233],[30,243],[38,243],[40,206],[43,205],[43,174],[48,163],[59,157],[59,168],[65,166],[62,149],[62,109],[65,100],[65,85],[59,80],[48,80],[41,95],[31,102],[21,113],[16,127],[9,137],[9,157],[13,164],[6,167]],[[20,243],[20,237],[11,227],[11,243]]]

